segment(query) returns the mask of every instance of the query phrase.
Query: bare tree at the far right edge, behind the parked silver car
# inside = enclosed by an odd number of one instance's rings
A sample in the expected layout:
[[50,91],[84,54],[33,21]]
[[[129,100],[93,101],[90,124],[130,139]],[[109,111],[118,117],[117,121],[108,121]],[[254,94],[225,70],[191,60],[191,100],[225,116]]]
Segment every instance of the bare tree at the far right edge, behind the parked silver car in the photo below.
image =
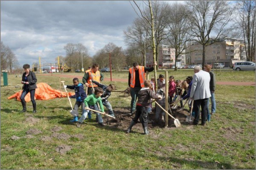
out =
[[256,15],[256,2],[255,0],[242,0],[236,3],[238,7],[239,16],[236,22],[239,24],[239,30],[242,31],[242,38],[245,41],[245,52],[247,61],[255,61],[255,15]]

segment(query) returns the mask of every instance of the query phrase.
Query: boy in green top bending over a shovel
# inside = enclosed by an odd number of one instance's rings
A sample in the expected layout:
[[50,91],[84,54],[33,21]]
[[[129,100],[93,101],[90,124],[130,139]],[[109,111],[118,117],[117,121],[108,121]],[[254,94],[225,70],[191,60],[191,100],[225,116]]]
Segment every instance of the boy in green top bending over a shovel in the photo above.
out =
[[[91,94],[91,95],[87,96],[87,98],[84,99],[85,107],[84,107],[84,110],[83,110],[83,114],[82,114],[81,118],[79,119],[76,127],[81,127],[81,124],[83,123],[84,119],[87,117],[87,114],[89,112],[89,110],[88,110],[89,108],[93,109],[93,110],[104,112],[104,108],[103,108],[103,105],[102,105],[102,99],[100,97],[103,94],[103,90],[102,90],[102,88],[99,88],[99,87],[95,87],[94,90],[95,90],[94,94]],[[98,108],[97,102],[99,103],[100,108]],[[100,126],[104,126],[101,114],[97,112],[96,115],[97,115],[98,120],[99,120],[98,124]]]

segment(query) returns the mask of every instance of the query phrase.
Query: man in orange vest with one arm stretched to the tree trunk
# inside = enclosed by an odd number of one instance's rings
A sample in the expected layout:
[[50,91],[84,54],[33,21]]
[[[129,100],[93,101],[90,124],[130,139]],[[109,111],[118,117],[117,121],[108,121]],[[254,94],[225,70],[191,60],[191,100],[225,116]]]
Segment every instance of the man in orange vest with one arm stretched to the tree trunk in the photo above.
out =
[[[157,62],[154,63],[157,65]],[[145,81],[145,72],[152,72],[154,67],[144,67],[139,66],[139,63],[134,62],[133,67],[129,69],[129,76],[128,76],[128,86],[130,87],[130,94],[131,94],[131,113],[134,113],[136,107],[136,100],[138,97],[138,92],[141,88],[144,87]]]

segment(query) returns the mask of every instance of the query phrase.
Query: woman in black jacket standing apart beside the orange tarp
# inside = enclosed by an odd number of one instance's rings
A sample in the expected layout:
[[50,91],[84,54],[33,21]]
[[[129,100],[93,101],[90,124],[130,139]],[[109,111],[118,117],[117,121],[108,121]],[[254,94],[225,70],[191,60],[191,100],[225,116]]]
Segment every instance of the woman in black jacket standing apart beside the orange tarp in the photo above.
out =
[[22,81],[21,84],[23,84],[23,91],[20,96],[21,104],[23,109],[21,110],[22,112],[26,112],[26,101],[25,101],[25,96],[28,92],[30,92],[30,99],[33,104],[33,113],[36,113],[36,103],[35,103],[35,89],[37,88],[36,86],[36,76],[34,72],[30,72],[29,70],[30,66],[29,64],[24,64],[23,69],[25,72],[22,75]]

